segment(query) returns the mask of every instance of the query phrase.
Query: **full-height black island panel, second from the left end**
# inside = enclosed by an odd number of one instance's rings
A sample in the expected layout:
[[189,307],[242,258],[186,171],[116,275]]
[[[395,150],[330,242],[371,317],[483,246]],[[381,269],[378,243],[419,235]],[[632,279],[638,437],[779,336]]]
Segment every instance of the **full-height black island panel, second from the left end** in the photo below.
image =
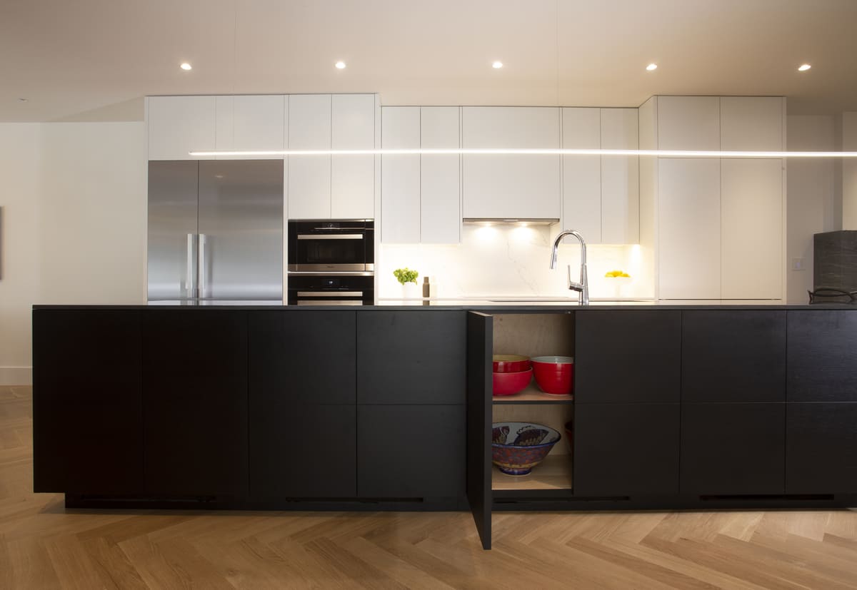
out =
[[147,491],[241,496],[248,491],[247,313],[144,313]]

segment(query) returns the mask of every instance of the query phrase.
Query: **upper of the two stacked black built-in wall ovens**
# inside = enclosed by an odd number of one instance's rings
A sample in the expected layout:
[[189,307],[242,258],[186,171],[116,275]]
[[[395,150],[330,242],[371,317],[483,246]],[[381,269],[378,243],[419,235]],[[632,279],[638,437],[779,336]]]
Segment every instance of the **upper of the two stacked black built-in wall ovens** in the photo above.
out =
[[375,271],[375,221],[290,221],[289,271]]

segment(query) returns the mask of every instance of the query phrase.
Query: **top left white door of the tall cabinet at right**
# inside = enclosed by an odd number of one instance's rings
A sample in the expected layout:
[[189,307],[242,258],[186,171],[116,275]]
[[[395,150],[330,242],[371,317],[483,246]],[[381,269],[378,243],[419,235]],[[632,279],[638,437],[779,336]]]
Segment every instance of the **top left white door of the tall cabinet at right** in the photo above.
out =
[[719,150],[720,97],[658,97],[657,134],[661,150]]

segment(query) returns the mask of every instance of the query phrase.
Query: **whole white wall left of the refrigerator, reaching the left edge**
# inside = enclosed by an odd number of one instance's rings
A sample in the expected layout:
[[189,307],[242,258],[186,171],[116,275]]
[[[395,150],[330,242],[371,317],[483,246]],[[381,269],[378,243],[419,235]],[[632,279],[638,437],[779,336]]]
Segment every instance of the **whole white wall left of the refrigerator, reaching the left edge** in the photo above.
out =
[[0,123],[0,384],[30,383],[33,304],[146,301],[143,129]]

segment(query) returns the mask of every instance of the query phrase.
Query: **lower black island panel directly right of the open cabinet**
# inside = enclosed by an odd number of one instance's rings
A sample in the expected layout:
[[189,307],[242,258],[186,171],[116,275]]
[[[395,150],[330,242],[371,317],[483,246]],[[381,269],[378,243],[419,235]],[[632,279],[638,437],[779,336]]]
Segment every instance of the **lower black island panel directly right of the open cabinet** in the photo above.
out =
[[679,420],[677,403],[576,405],[574,495],[678,493]]

